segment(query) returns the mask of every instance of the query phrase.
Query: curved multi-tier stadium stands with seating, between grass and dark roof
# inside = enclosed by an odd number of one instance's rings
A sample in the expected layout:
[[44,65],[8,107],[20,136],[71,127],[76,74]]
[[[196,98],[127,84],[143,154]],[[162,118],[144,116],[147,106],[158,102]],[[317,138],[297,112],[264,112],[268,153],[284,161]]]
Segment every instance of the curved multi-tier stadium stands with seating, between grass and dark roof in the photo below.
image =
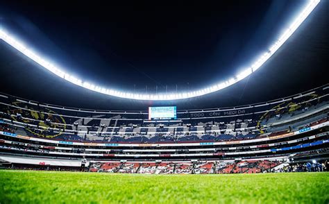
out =
[[328,109],[328,85],[265,103],[182,110],[173,121],[1,94],[0,159],[76,168],[85,157],[90,171],[112,173],[267,172],[303,153],[326,156]]

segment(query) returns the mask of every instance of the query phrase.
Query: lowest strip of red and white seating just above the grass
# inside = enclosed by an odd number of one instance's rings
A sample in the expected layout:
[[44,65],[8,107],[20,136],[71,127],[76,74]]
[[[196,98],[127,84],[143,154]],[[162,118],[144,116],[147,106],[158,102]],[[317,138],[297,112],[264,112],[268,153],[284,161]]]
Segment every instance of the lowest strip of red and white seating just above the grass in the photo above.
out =
[[240,162],[96,162],[90,171],[110,173],[261,173],[278,166],[277,161],[240,161]]

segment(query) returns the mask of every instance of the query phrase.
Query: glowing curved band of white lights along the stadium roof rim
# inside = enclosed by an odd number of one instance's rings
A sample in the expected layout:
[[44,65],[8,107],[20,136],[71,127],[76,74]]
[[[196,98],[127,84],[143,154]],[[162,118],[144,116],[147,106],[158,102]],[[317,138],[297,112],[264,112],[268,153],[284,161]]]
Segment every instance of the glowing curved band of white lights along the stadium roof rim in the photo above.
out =
[[31,60],[34,60],[45,69],[48,69],[53,74],[60,76],[60,78],[64,78],[65,80],[74,83],[75,85],[85,87],[86,89],[92,90],[94,92],[99,92],[110,96],[117,96],[125,99],[149,100],[149,101],[188,99],[196,96],[209,94],[212,92],[217,92],[218,90],[222,90],[223,88],[233,85],[237,83],[239,80],[242,80],[247,76],[253,74],[254,71],[259,69],[264,64],[264,62],[269,60],[269,58],[271,58],[271,56],[273,56],[273,54],[276,53],[278,49],[280,49],[280,46],[282,46],[282,44],[284,44],[288,40],[288,38],[294,33],[294,31],[296,31],[296,29],[301,25],[301,23],[303,23],[303,21],[307,18],[307,16],[310,15],[312,10],[314,10],[314,8],[318,5],[319,2],[320,0],[310,0],[306,4],[306,6],[301,10],[301,12],[296,16],[296,18],[289,26],[289,28],[287,28],[287,30],[282,35],[280,35],[280,37],[278,37],[278,41],[276,41],[269,48],[269,51],[264,52],[262,56],[260,56],[260,58],[255,60],[255,62],[253,62],[250,67],[246,67],[244,71],[241,71],[239,74],[237,74],[237,76],[230,78],[229,80],[222,81],[215,85],[210,85],[209,87],[205,87],[201,90],[194,90],[191,92],[180,92],[180,93],[169,93],[169,94],[135,94],[130,92],[122,92],[119,90],[106,89],[104,87],[93,85],[85,80],[71,76],[71,74],[67,74],[61,67],[55,67],[55,65],[52,65],[50,62],[47,62],[47,60],[42,58],[42,56],[39,56],[37,55],[37,53],[34,53],[30,49],[28,49],[26,45],[24,45],[22,42],[19,42],[19,40],[15,39],[15,37],[13,37],[10,33],[3,31],[1,28],[0,28],[0,39],[10,44],[10,46],[14,47],[28,58],[31,58]]

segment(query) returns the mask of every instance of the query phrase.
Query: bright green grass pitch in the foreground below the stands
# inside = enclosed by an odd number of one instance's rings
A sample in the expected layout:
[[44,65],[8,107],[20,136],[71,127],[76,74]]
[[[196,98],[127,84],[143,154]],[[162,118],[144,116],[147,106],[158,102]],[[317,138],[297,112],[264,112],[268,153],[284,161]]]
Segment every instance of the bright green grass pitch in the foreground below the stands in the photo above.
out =
[[0,203],[329,203],[329,173],[0,171]]

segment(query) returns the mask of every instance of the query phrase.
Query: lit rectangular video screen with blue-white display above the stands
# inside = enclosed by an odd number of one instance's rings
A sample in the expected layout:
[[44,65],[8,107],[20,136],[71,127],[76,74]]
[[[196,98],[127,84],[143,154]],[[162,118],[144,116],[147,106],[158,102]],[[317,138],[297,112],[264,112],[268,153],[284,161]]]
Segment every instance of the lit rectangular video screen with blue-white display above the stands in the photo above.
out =
[[149,120],[177,119],[176,106],[149,107]]

